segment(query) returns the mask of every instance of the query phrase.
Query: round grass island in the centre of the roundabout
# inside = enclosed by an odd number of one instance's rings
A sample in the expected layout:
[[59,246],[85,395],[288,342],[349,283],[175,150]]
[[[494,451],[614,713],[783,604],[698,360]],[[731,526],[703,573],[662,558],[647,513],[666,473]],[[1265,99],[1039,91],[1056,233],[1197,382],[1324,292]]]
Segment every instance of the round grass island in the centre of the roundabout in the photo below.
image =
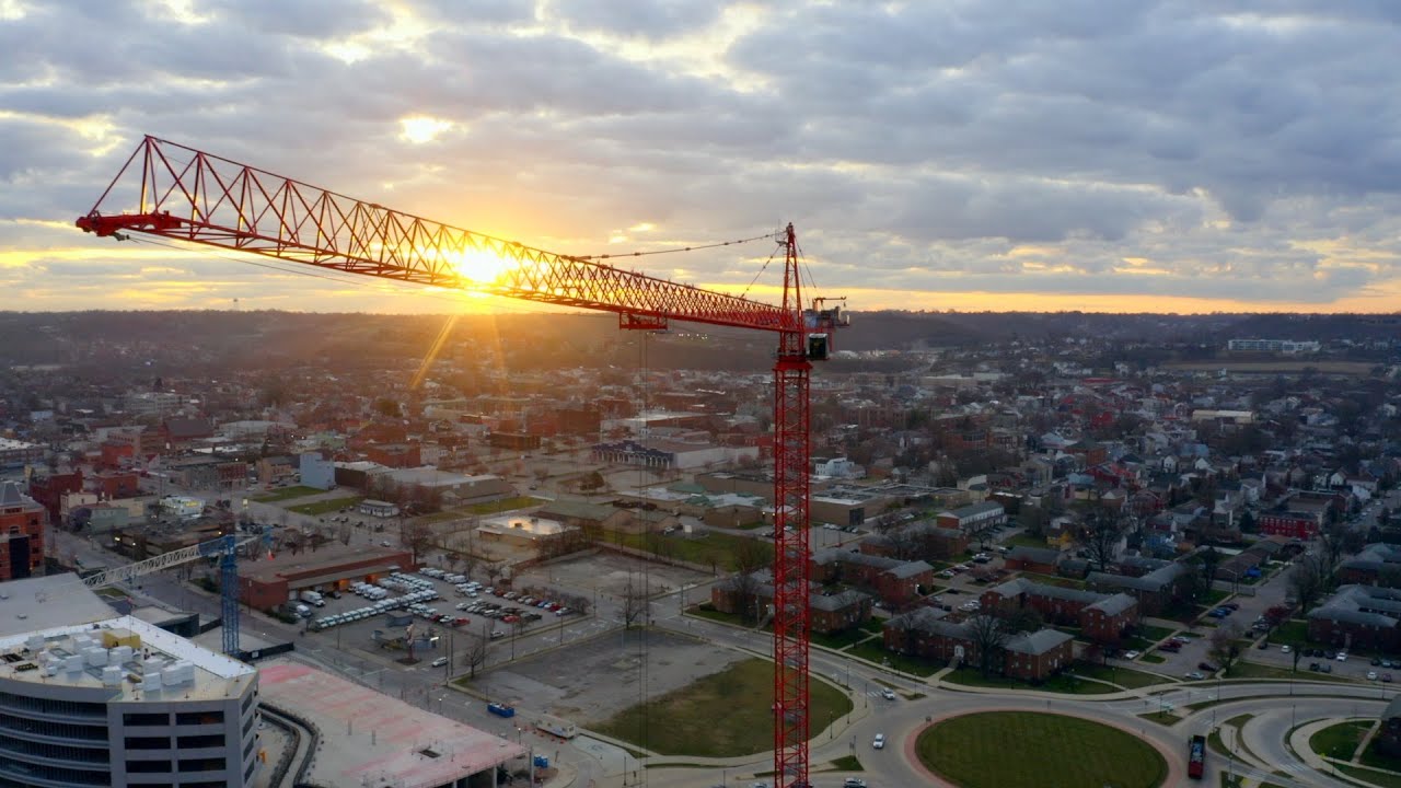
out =
[[964,788],[1153,788],[1167,777],[1167,761],[1138,738],[1058,714],[955,716],[920,733],[915,752]]

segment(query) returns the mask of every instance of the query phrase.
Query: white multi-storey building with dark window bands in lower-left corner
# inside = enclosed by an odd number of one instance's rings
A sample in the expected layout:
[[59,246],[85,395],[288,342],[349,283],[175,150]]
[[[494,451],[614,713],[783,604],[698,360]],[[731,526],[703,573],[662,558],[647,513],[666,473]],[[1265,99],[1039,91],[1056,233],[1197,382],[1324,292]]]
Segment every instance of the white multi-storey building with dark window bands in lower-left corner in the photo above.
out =
[[[55,625],[92,616],[81,586],[42,611],[32,590],[6,590],[0,785],[252,784],[256,670],[99,602],[102,620]],[[48,624],[17,632],[27,620]]]

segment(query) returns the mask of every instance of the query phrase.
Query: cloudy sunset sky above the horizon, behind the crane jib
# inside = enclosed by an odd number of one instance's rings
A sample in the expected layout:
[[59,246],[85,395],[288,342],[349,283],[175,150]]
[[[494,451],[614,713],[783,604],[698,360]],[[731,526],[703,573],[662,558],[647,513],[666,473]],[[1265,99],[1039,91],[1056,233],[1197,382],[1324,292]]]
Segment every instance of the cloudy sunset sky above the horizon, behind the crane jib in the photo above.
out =
[[[76,230],[154,135],[562,254],[792,222],[807,294],[857,311],[1401,311],[1398,24],[1394,0],[0,0],[0,308],[537,308]],[[769,299],[772,252],[626,266]]]

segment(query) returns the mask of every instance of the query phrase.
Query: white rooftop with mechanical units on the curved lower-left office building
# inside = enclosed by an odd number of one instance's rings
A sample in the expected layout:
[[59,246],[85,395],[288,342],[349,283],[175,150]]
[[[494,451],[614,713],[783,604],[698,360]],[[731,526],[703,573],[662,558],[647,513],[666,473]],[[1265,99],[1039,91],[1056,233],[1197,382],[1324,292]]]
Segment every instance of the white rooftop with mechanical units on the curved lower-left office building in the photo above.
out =
[[237,697],[256,676],[133,616],[0,638],[0,679],[102,690],[108,701]]

